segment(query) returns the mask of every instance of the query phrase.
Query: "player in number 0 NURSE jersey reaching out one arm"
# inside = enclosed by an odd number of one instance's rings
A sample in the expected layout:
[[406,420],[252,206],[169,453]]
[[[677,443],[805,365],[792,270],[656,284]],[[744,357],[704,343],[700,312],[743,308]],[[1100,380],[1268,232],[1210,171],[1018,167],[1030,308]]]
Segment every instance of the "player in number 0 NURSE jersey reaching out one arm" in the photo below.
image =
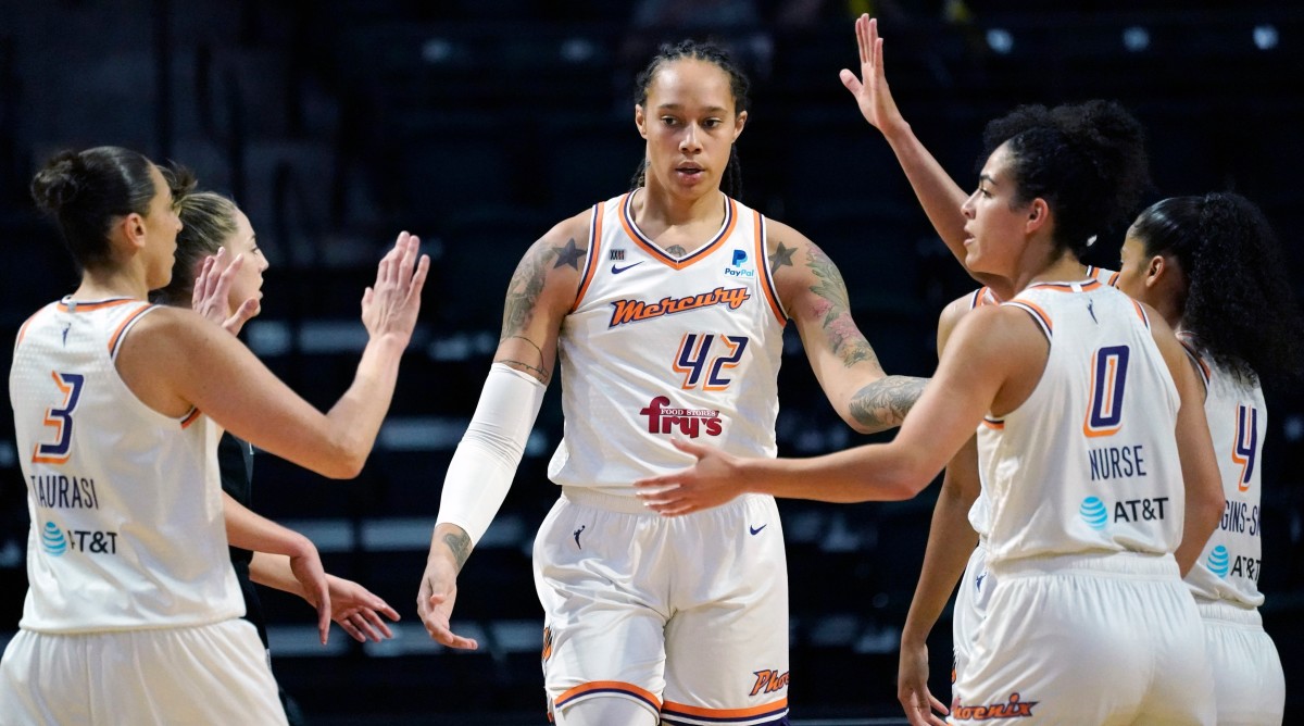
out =
[[698,464],[640,481],[644,501],[682,516],[745,491],[909,498],[981,424],[1000,585],[952,721],[1213,723],[1179,577],[1222,510],[1198,382],[1167,323],[1082,279],[1077,257],[1140,194],[1141,128],[1089,102],[1016,109],[986,138],[998,142],[961,207],[965,265],[1018,293],[965,315],[897,438],[807,460],[675,442]]

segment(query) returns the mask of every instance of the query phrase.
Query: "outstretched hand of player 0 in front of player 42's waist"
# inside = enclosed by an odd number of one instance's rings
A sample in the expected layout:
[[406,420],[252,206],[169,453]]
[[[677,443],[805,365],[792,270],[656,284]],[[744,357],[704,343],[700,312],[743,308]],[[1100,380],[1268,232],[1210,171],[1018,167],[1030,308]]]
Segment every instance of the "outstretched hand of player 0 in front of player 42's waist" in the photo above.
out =
[[647,507],[664,516],[681,516],[719,507],[745,491],[738,459],[699,443],[670,439],[675,448],[698,457],[692,467],[634,482]]

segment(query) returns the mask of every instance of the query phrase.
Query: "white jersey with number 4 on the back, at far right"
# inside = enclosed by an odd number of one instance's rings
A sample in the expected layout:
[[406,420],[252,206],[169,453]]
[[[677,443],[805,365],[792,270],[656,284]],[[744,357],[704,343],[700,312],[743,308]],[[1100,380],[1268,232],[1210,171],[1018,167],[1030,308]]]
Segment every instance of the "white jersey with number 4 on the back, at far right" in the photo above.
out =
[[[1185,344],[1187,341],[1184,341]],[[1223,517],[1205,551],[1187,574],[1191,592],[1205,600],[1227,600],[1248,607],[1264,603],[1258,570],[1264,542],[1260,532],[1261,463],[1267,435],[1264,390],[1236,379],[1196,348],[1187,352],[1205,379],[1205,417],[1222,473]]]

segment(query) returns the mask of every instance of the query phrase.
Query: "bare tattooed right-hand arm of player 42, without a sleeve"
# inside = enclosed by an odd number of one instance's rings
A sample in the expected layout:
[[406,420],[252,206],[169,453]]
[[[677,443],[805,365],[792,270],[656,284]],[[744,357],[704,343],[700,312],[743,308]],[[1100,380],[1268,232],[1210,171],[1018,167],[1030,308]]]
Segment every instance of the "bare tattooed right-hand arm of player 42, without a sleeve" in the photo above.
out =
[[852,319],[846,283],[833,261],[792,227],[768,225],[775,285],[833,409],[861,433],[900,426],[927,379],[885,374]]

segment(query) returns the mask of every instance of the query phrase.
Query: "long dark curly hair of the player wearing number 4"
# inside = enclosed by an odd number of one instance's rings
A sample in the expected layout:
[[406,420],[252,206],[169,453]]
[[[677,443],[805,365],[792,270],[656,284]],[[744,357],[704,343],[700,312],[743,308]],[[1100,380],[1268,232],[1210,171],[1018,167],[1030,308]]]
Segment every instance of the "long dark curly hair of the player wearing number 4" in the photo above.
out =
[[[1300,379],[1304,319],[1277,235],[1240,194],[1172,197],[1137,216],[1146,257],[1176,258],[1187,276],[1181,330],[1237,379]],[[1253,325],[1247,325],[1253,321]]]

